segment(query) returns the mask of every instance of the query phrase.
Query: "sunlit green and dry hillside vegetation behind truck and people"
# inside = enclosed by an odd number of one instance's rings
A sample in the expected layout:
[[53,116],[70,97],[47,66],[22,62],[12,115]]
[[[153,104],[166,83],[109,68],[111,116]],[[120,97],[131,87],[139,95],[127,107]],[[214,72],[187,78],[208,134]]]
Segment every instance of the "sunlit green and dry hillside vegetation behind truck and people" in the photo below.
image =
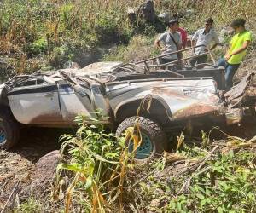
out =
[[[117,57],[110,52],[105,60],[135,60],[131,57],[134,40],[145,37],[145,46],[153,45],[153,37],[163,32],[161,20],[153,23],[138,18],[131,23],[127,9],[137,13],[140,1],[13,1],[0,3],[0,53],[17,72],[33,72],[44,66],[63,67],[67,60],[85,66],[88,61],[101,60],[104,53],[97,52],[117,47]],[[249,7],[252,5],[252,7]],[[255,21],[255,0],[246,1],[154,1],[157,14],[166,12],[183,14],[181,25],[190,33],[212,16],[216,26],[225,26],[230,20],[242,16],[248,25]],[[190,9],[189,13],[186,12]],[[230,13],[232,11],[232,13]],[[141,36],[140,36],[141,35]],[[139,38],[137,38],[139,37]],[[128,47],[126,45],[131,43]],[[128,49],[128,50],[127,50]],[[133,52],[145,49],[137,46]],[[146,48],[147,55],[154,55],[153,48]],[[127,52],[127,55],[123,51]],[[90,60],[87,54],[92,54]],[[137,56],[137,55],[134,55]]]

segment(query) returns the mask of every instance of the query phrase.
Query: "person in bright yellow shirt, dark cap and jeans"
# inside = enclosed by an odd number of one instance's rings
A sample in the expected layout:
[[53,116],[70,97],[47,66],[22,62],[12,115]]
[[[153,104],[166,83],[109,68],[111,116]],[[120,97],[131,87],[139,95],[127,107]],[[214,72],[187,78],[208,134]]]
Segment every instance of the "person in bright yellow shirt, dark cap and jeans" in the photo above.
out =
[[230,47],[223,58],[218,60],[218,66],[225,67],[226,89],[233,86],[233,77],[247,53],[247,48],[252,41],[252,33],[245,28],[246,20],[236,19],[231,23],[236,35],[230,41]]

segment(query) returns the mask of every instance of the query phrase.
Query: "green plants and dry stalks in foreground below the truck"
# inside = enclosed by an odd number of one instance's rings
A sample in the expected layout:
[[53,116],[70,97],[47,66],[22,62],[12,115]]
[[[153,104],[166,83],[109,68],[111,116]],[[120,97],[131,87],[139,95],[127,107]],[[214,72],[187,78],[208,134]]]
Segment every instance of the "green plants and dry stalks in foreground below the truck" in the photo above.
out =
[[[66,212],[255,212],[255,141],[229,136],[212,144],[202,133],[205,148],[184,144],[177,153],[164,153],[150,164],[135,165],[125,139],[107,134],[98,119],[87,125],[78,117],[75,136],[64,135],[67,164],[59,164],[55,199],[65,193]],[[131,133],[131,130],[130,130]],[[130,139],[136,140],[136,136]],[[216,145],[218,144],[218,145]],[[67,170],[72,171],[68,173]],[[67,189],[64,175],[68,176]]]

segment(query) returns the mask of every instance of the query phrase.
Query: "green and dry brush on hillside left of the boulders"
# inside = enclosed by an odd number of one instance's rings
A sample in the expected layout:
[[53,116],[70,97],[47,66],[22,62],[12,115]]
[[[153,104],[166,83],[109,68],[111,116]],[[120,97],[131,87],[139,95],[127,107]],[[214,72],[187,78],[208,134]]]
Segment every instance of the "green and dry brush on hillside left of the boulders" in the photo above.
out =
[[[136,26],[129,24],[126,9],[139,2],[4,0],[0,5],[1,54],[14,59],[10,62],[18,72],[32,72],[41,66],[62,67],[67,60],[84,66],[84,53],[127,44]],[[140,27],[143,32],[148,24]]]

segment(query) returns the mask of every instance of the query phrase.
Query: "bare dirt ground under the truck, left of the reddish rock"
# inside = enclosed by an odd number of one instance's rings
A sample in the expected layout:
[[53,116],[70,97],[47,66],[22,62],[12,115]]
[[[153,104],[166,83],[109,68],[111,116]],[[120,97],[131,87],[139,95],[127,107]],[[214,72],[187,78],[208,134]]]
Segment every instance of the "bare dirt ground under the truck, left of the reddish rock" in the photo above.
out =
[[61,147],[59,137],[64,132],[47,128],[23,129],[20,131],[20,142],[14,149],[0,150],[0,210],[15,184],[20,183],[19,190],[30,185],[34,165],[46,153]]

